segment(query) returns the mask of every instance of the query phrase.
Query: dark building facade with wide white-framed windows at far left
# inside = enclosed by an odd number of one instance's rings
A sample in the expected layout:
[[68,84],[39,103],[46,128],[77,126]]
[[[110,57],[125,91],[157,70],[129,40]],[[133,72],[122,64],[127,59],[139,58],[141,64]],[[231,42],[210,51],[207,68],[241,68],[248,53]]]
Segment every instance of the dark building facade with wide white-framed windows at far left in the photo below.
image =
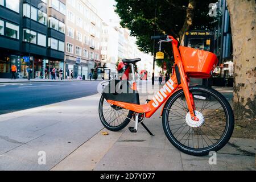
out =
[[65,0],[0,1],[0,77],[48,77],[64,66]]

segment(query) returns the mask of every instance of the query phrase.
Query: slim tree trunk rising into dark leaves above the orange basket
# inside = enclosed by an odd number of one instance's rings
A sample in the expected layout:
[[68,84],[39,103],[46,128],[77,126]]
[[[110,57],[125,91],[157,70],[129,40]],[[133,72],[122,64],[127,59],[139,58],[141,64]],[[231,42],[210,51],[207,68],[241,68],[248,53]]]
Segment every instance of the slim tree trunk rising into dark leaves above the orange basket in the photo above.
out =
[[194,13],[195,7],[196,7],[196,0],[189,0],[188,8],[187,8],[187,16],[185,18],[183,27],[179,31],[179,41],[181,45],[184,45],[185,31],[189,30],[189,28],[192,26],[193,18],[195,15]]

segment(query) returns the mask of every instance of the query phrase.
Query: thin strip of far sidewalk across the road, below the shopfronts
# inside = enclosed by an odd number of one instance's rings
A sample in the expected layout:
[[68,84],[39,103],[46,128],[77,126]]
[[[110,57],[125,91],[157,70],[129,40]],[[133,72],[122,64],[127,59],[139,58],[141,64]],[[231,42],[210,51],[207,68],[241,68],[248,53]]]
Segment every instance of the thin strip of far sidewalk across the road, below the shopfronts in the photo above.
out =
[[[65,81],[90,81],[90,80],[68,80],[65,79],[63,81],[59,80],[51,80],[51,79],[40,79],[40,78],[35,78],[35,79],[23,79],[23,78],[19,78],[19,79],[9,79],[9,78],[0,78],[0,84],[5,84],[5,83],[22,83],[22,82],[65,82]],[[94,80],[91,80],[94,81]],[[101,81],[101,80],[98,80]]]

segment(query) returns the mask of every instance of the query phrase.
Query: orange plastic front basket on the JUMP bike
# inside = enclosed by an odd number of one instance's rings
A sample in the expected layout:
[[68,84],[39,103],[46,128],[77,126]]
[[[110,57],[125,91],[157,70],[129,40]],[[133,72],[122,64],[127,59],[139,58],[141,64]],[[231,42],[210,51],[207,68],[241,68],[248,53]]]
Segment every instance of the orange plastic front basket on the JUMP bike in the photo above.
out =
[[209,78],[218,64],[217,56],[208,51],[180,46],[185,73],[193,78]]

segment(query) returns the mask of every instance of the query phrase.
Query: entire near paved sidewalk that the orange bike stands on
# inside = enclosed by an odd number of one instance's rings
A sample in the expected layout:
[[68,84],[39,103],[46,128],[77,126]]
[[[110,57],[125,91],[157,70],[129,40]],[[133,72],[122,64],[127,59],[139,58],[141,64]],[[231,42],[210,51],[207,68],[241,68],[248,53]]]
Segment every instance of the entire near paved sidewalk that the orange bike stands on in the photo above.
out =
[[[142,94],[141,102],[153,94]],[[0,115],[0,169],[255,170],[255,140],[230,139],[217,153],[217,164],[210,165],[209,156],[186,155],[172,146],[163,132],[160,109],[145,121],[154,137],[141,125],[138,133],[127,127],[116,133],[103,129],[99,98],[97,94]],[[38,164],[41,150],[46,151],[46,165]]]

